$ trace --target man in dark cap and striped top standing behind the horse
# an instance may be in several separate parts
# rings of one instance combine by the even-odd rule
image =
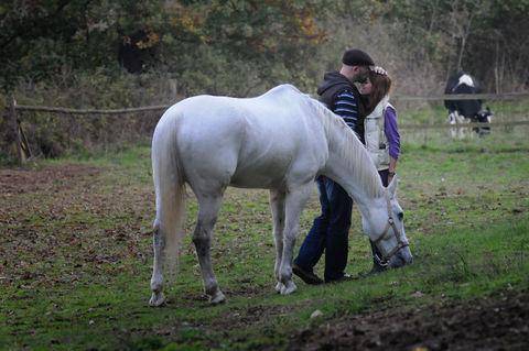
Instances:
[[[342,57],[339,72],[324,75],[324,80],[317,89],[320,100],[334,113],[341,116],[364,142],[364,107],[355,81],[366,79],[369,67],[374,66],[369,55],[360,50],[348,50]],[[314,274],[313,268],[325,251],[325,283],[341,282],[349,278],[344,270],[347,264],[348,231],[353,200],[335,182],[319,177],[322,215],[314,223],[303,241],[292,271],[307,284],[322,284],[323,281]]]

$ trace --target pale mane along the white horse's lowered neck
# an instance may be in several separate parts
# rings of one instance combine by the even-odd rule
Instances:
[[[347,162],[350,176],[360,182],[367,195],[380,197],[384,195],[382,182],[377,173],[366,147],[361,144],[356,133],[338,116],[334,114],[322,102],[302,95],[307,106],[323,121],[327,138],[334,133],[338,140],[336,143],[338,155]]]

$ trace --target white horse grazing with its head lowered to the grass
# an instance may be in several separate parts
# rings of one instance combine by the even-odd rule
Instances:
[[[213,273],[209,246],[227,186],[270,190],[276,241],[276,289],[295,290],[292,254],[301,211],[314,178],[327,176],[350,195],[364,231],[391,266],[412,261],[396,199],[385,188],[364,145],[342,118],[295,87],[282,85],[250,99],[197,96],[171,107],[152,140],[156,196],[150,305],[164,301],[163,264],[176,261],[183,237],[184,184],[198,201],[193,234],[204,288],[225,300]]]

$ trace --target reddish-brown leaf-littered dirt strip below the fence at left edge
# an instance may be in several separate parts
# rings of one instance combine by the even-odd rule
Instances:
[[[43,169],[0,169],[0,195],[10,196],[54,187],[64,189],[73,178],[95,176],[99,168],[85,165],[48,166]]]

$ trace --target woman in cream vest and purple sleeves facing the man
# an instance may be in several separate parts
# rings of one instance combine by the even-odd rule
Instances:
[[[367,98],[367,111],[364,120],[366,147],[375,162],[384,186],[388,186],[395,176],[400,154],[400,135],[397,127],[397,110],[389,103],[391,79],[386,74],[369,72],[366,81],[358,91]],[[388,263],[371,243],[374,266],[368,274],[377,274],[387,268]]]

